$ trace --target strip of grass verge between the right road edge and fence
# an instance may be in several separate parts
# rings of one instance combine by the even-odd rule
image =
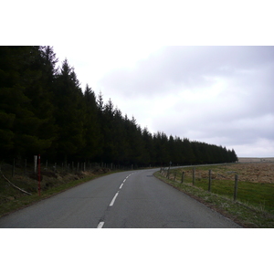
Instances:
[[[274,216],[257,208],[240,202],[234,202],[231,198],[224,195],[209,193],[192,184],[180,184],[169,180],[160,172],[156,172],[155,177],[159,178],[166,184],[172,185],[179,191],[184,192],[206,206],[216,210],[223,216],[227,216],[242,227],[247,228],[273,228]]]

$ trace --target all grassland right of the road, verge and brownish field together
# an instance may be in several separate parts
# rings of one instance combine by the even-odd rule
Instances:
[[[212,170],[210,192],[209,169]],[[236,201],[235,174],[238,175]],[[193,166],[171,169],[169,178],[166,171],[155,175],[243,227],[274,228],[274,163]]]

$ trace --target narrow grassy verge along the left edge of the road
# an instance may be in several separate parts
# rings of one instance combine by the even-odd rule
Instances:
[[[66,184],[57,184],[46,190],[41,191],[41,195],[38,193],[34,193],[33,195],[22,195],[16,199],[11,201],[6,201],[0,205],[0,217],[8,215],[16,210],[22,209],[28,205],[33,205],[41,200],[47,199],[53,195],[58,195],[61,192],[68,190],[69,188],[78,186],[79,184],[84,184],[89,182],[90,180],[96,179],[101,176],[105,176],[108,174],[117,173],[119,171],[112,171],[104,174],[88,174],[79,180],[73,180],[70,182],[66,182]]]

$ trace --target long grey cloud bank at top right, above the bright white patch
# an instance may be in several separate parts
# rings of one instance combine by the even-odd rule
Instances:
[[[101,84],[128,96],[150,97],[180,85],[210,86],[204,76],[237,76],[240,70],[259,69],[273,60],[273,47],[165,47],[136,68],[112,71]]]

